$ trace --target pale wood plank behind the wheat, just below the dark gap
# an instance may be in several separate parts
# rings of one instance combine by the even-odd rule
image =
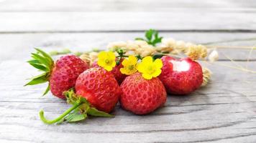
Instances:
[[[164,37],[173,37],[177,40],[206,44],[216,42],[220,46],[253,46],[256,41],[255,33],[204,33],[204,32],[160,32]],[[142,32],[127,33],[75,33],[75,34],[0,34],[0,60],[19,59],[27,60],[34,47],[40,47],[46,51],[52,49],[72,49],[73,51],[88,51],[98,47],[104,49],[111,41],[128,41],[134,37],[144,36]],[[248,41],[229,41],[233,39],[251,39]],[[15,41],[15,42],[14,42]],[[218,49],[219,59],[227,59],[224,55],[234,60],[247,60],[250,49]],[[252,52],[250,59],[256,59],[256,50]]]

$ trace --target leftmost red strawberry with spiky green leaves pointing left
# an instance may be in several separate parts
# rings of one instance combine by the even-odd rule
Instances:
[[[26,85],[49,82],[44,95],[50,90],[55,97],[65,99],[63,92],[75,86],[78,76],[89,68],[88,64],[74,55],[62,56],[54,64],[50,55],[36,50],[37,54],[32,53],[32,60],[28,63],[44,73],[32,78]]]

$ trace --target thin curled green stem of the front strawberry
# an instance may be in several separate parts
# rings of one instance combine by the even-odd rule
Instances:
[[[40,119],[42,120],[42,122],[44,122],[45,124],[54,124],[55,122],[60,121],[60,119],[63,119],[66,115],[68,115],[70,112],[72,112],[74,109],[76,109],[77,107],[79,107],[81,104],[83,104],[83,102],[79,102],[78,104],[74,104],[73,107],[71,107],[70,109],[66,110],[63,114],[61,114],[59,117],[52,119],[52,120],[48,120],[45,118],[44,116],[44,111],[40,111],[39,112],[39,116]]]

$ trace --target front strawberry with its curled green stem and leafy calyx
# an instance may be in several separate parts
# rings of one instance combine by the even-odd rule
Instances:
[[[78,122],[88,115],[96,117],[112,117],[114,109],[122,93],[119,84],[111,72],[102,68],[91,68],[79,75],[76,80],[76,94],[73,89],[64,92],[68,103],[73,107],[66,110],[60,117],[47,120],[40,111],[40,119],[45,124],[60,124],[62,122]]]

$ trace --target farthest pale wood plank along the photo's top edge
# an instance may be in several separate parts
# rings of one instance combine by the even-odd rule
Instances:
[[[1,1],[0,11],[255,11],[253,0],[26,0]]]

